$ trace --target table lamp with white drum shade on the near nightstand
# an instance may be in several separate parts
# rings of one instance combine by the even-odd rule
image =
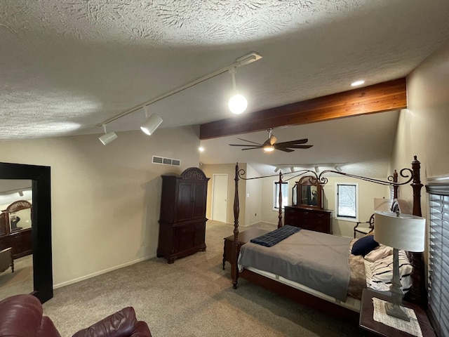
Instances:
[[[393,247],[393,278],[391,279],[391,300],[385,307],[387,315],[410,321],[401,307],[403,291],[399,278],[399,249],[405,251],[424,251],[426,220],[419,216],[403,213],[375,212],[374,239],[380,244]]]

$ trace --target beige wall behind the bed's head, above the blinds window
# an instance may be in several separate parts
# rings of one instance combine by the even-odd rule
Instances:
[[[413,155],[421,162],[421,180],[449,174],[449,40],[407,78],[408,109],[401,111],[391,160],[392,167],[410,167]],[[390,170],[391,171],[391,170]],[[412,201],[412,189],[401,187]],[[422,215],[427,196],[422,194]]]

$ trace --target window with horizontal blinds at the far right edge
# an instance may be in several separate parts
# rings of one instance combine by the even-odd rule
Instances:
[[[429,192],[429,313],[438,336],[449,336],[449,183]]]

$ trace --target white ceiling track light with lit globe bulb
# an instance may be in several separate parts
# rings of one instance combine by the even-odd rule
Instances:
[[[232,74],[232,83],[233,83],[233,88],[234,88],[234,92],[236,93],[236,84],[235,84],[235,74],[236,74],[236,69],[238,67],[243,67],[243,65],[249,65],[250,63],[253,63],[257,60],[260,60],[262,58],[262,55],[260,55],[259,53],[256,53],[255,51],[248,53],[246,55],[241,56],[240,58],[237,58],[236,61],[234,63],[232,63],[232,65],[228,65],[227,67],[221,68],[219,70],[216,70],[215,72],[211,72],[210,74],[204,75],[203,77],[200,77],[199,79],[195,79],[192,82],[189,82],[187,84],[184,84],[183,86],[180,86],[179,88],[175,88],[172,91],[168,91],[168,93],[164,93],[163,95],[160,95],[156,98],[153,98],[152,100],[149,100],[145,103],[143,103],[142,105],[138,105],[137,107],[133,107],[130,110],[126,110],[125,112],[121,112],[121,114],[117,114],[114,117],[111,117],[109,119],[107,119],[106,121],[103,121],[101,124],[98,124],[97,126],[105,126],[106,124],[115,121],[116,119],[119,119],[121,117],[125,117],[128,114],[138,111],[140,109],[144,109],[145,111],[145,116],[147,116],[147,106],[156,102],[159,102],[159,100],[163,100],[164,98],[168,98],[171,95],[175,95],[175,93],[179,93],[180,91],[183,91],[185,89],[191,88],[192,86],[195,86],[196,84],[200,84],[203,81],[207,81],[208,79],[212,79],[213,77],[223,74],[225,72],[229,72]],[[241,114],[242,112],[244,112],[246,110],[246,107],[248,107],[248,102],[246,100],[246,98],[241,95],[234,95],[231,100],[229,100],[228,103],[228,107],[229,110],[231,110],[232,113],[234,114]],[[154,116],[154,114],[152,114],[152,116]],[[149,118],[152,118],[152,116],[150,116]],[[147,126],[147,123],[149,123],[149,126]],[[159,123],[159,124],[158,124]],[[159,115],[156,115],[156,117],[153,117],[153,121],[152,123],[150,123],[149,121],[145,121],[145,124],[143,124],[140,128],[142,129],[142,131],[144,131],[145,133],[151,135],[156,128],[162,123],[162,118]],[[157,124],[157,125],[156,125]],[[151,131],[152,129],[152,125],[156,125],[154,127],[154,130]],[[145,129],[144,129],[145,128]],[[147,131],[151,131],[150,133],[148,133]],[[115,139],[115,138],[114,138]],[[112,140],[111,140],[112,141]]]

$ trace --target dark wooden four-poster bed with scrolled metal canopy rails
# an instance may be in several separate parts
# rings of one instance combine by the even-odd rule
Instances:
[[[421,216],[421,206],[420,206],[420,190],[422,187],[422,184],[420,182],[420,162],[417,161],[417,158],[415,156],[415,160],[412,163],[412,168],[411,169],[402,169],[400,171],[400,175],[403,178],[406,178],[406,181],[403,183],[398,183],[398,173],[394,173],[394,176],[391,176],[388,178],[388,181],[383,181],[383,180],[376,180],[373,178],[367,178],[367,177],[362,177],[362,176],[354,176],[348,173],[343,173],[340,171],[331,171],[331,170],[326,170],[323,171],[318,175],[316,175],[316,173],[314,171],[309,171],[309,170],[302,170],[302,171],[297,171],[295,172],[295,176],[293,176],[292,178],[288,178],[286,180],[283,180],[283,174],[280,172],[279,173],[279,184],[283,183],[283,181],[287,181],[293,178],[297,178],[298,176],[302,176],[304,174],[311,174],[316,176],[316,180],[319,181],[320,184],[324,185],[328,182],[328,179],[325,177],[326,174],[329,173],[335,173],[337,175],[342,175],[342,176],[347,176],[350,178],[356,178],[356,179],[361,179],[361,180],[366,180],[368,182],[371,183],[377,183],[377,184],[382,184],[382,185],[390,185],[394,187],[394,199],[397,199],[398,197],[398,187],[400,185],[405,185],[407,183],[410,183],[413,181],[413,183],[411,183],[411,186],[413,187],[413,215],[415,216]],[[357,322],[358,320],[358,311],[360,309],[360,301],[358,300],[357,296],[354,296],[355,298],[353,298],[351,296],[351,293],[348,291],[349,296],[347,296],[346,299],[342,298],[341,295],[335,295],[332,293],[332,291],[326,291],[326,288],[330,288],[329,284],[324,285],[322,289],[322,291],[317,291],[314,287],[310,288],[309,286],[304,286],[304,284],[298,284],[297,282],[291,282],[290,279],[283,277],[283,276],[279,276],[279,274],[276,274],[276,272],[273,272],[270,268],[267,269],[258,269],[257,267],[251,267],[250,265],[247,265],[245,267],[243,267],[242,265],[240,265],[241,260],[239,260],[239,256],[240,256],[240,251],[242,251],[245,254],[248,254],[247,251],[252,251],[252,250],[256,250],[256,251],[261,251],[260,253],[267,253],[269,251],[269,249],[267,247],[261,247],[257,244],[253,244],[253,243],[248,243],[245,244],[246,241],[248,241],[247,239],[245,240],[245,242],[241,242],[239,240],[239,180],[243,179],[243,180],[250,180],[250,179],[258,179],[258,178],[267,178],[267,176],[262,176],[262,177],[256,177],[256,178],[243,178],[243,175],[245,174],[244,170],[239,169],[239,165],[236,164],[236,170],[235,170],[235,194],[234,194],[234,240],[232,242],[232,249],[231,249],[231,256],[230,256],[230,260],[231,260],[231,277],[232,277],[232,284],[234,286],[234,289],[237,288],[237,283],[238,283],[238,279],[239,277],[242,277],[243,279],[247,279],[250,282],[253,282],[255,284],[258,284],[260,286],[263,286],[269,290],[272,290],[276,293],[281,293],[281,295],[283,296],[287,296],[290,298],[293,298],[294,300],[297,300],[300,303],[303,303],[305,305],[310,306],[311,308],[316,308],[318,310],[324,311],[324,312],[328,312],[331,315],[337,316],[337,317],[341,317],[344,319],[349,319],[352,322]],[[277,175],[276,175],[277,176]],[[278,222],[278,230],[280,230],[283,227],[283,223],[282,223],[282,189],[279,188],[279,222]],[[395,203],[394,206],[397,206],[397,204]],[[288,225],[288,224],[286,224]],[[290,227],[290,226],[286,226],[286,227]],[[275,231],[276,232],[276,231]],[[309,246],[312,246],[310,244],[310,242],[313,242],[313,240],[316,240],[316,242],[323,242],[326,241],[325,239],[336,239],[336,238],[343,238],[343,237],[336,237],[333,236],[331,234],[324,234],[324,233],[319,233],[319,232],[312,232],[309,230],[300,230],[300,232],[302,232],[302,236],[305,235],[305,239],[302,239],[303,241],[299,241],[299,242],[293,242],[293,237],[298,236],[298,235],[292,235],[291,237],[288,237],[287,239],[284,239],[283,241],[279,242],[279,244],[276,244],[275,246],[279,245],[279,249],[281,249],[281,251],[288,251],[290,249],[290,247],[295,246],[300,247],[300,246],[307,246],[307,244],[309,244]],[[318,235],[318,237],[315,238],[315,236]],[[348,240],[349,241],[349,240]],[[344,242],[344,239],[343,241]],[[337,243],[332,243],[330,245],[334,245],[332,247],[332,249],[335,248],[335,246],[338,245],[342,245],[344,243],[337,242]],[[355,240],[352,240],[351,243],[349,244],[349,246],[347,247],[349,251],[349,249],[351,248],[352,244],[354,244]],[[307,243],[307,244],[305,244]],[[242,244],[245,244],[245,246],[242,246]],[[288,246],[290,245],[290,246]],[[295,249],[296,249],[295,248]],[[320,246],[319,249],[316,249],[316,246],[314,246],[314,251],[316,252],[316,255],[319,255],[318,251],[326,251],[326,247],[325,246]],[[314,251],[308,251],[306,255],[308,256],[314,256]],[[272,251],[270,251],[271,253]],[[243,254],[243,255],[245,255]],[[269,254],[269,253],[267,253]],[[277,253],[274,253],[275,255]],[[347,254],[347,253],[346,253]],[[331,251],[331,253],[329,255],[332,256],[337,256],[337,253],[333,253]],[[342,253],[341,255],[344,255],[344,253]],[[351,254],[349,254],[351,257]],[[420,303],[421,305],[425,305],[427,303],[427,293],[426,293],[426,289],[425,289],[425,284],[424,284],[424,261],[422,258],[422,253],[407,253],[408,258],[410,260],[411,265],[413,266],[413,272],[411,275],[411,279],[413,281],[413,286],[410,288],[410,290],[407,293],[407,298],[408,300],[413,300],[414,302]],[[242,256],[240,256],[242,257]],[[267,255],[265,255],[264,257],[261,256],[257,256],[257,257],[253,257],[252,261],[259,261],[260,260],[264,260],[265,258],[267,258]],[[242,258],[243,259],[243,258]],[[267,258],[269,260],[269,258]],[[286,264],[285,260],[291,260],[292,258],[288,257],[285,258],[284,260],[281,260],[282,265]],[[323,260],[323,258],[321,256],[319,256],[318,258],[319,260]],[[347,257],[346,257],[347,259]],[[363,258],[362,258],[363,259]],[[249,258],[249,260],[251,260],[251,258]],[[269,262],[267,262],[268,265],[272,266],[272,265],[276,265],[276,262],[274,262],[274,260],[269,260]],[[309,263],[307,261],[307,263]],[[332,263],[337,263],[337,262],[330,262],[329,264]],[[340,262],[338,262],[340,263]],[[348,260],[345,261],[346,264],[348,264]],[[343,264],[345,264],[343,263]],[[353,262],[351,261],[351,258],[349,258],[349,265],[351,265]],[[356,262],[356,263],[361,263],[360,261]],[[297,267],[301,267],[302,263],[297,263],[294,261],[293,263],[293,268],[297,268]],[[314,264],[314,262],[312,261],[311,264]],[[243,263],[243,265],[246,265],[246,263]],[[263,263],[262,263],[263,265]],[[352,268],[352,265],[350,266]],[[321,267],[321,269],[323,269],[323,267]],[[326,269],[326,268],[325,268]],[[316,269],[319,270],[319,269]],[[322,270],[320,270],[321,272]],[[325,270],[326,271],[326,270]],[[296,270],[294,270],[294,273],[297,274],[307,274],[307,272],[297,272]],[[332,278],[332,282],[335,279],[335,274],[337,272],[335,272],[335,270],[329,270],[328,271],[328,275],[324,275],[323,279],[326,278]],[[353,280],[353,276],[356,276],[357,272],[354,272],[353,275],[353,271],[350,271],[351,273],[351,277],[349,279],[349,281],[347,280],[343,280],[342,283],[344,284],[344,282],[349,282],[349,286],[351,286],[351,282]],[[286,274],[290,275],[291,271],[286,272]],[[358,271],[358,274],[360,274],[360,272]],[[280,275],[283,275],[282,273]],[[312,275],[311,278],[316,278],[315,275]],[[329,280],[327,280],[329,282]],[[307,284],[308,280],[305,281],[305,284]],[[366,283],[364,284],[364,286],[366,287]],[[360,289],[361,292],[361,289]],[[343,296],[344,297],[344,296]]]

